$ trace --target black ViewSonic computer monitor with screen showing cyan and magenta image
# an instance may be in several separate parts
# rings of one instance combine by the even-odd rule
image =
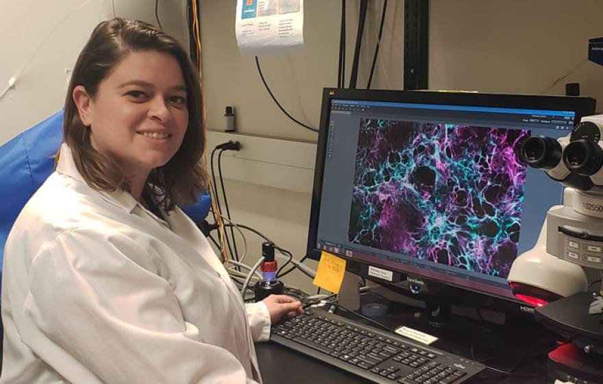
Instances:
[[[517,149],[594,112],[588,97],[325,88],[308,256],[517,304],[509,269],[563,189]]]

